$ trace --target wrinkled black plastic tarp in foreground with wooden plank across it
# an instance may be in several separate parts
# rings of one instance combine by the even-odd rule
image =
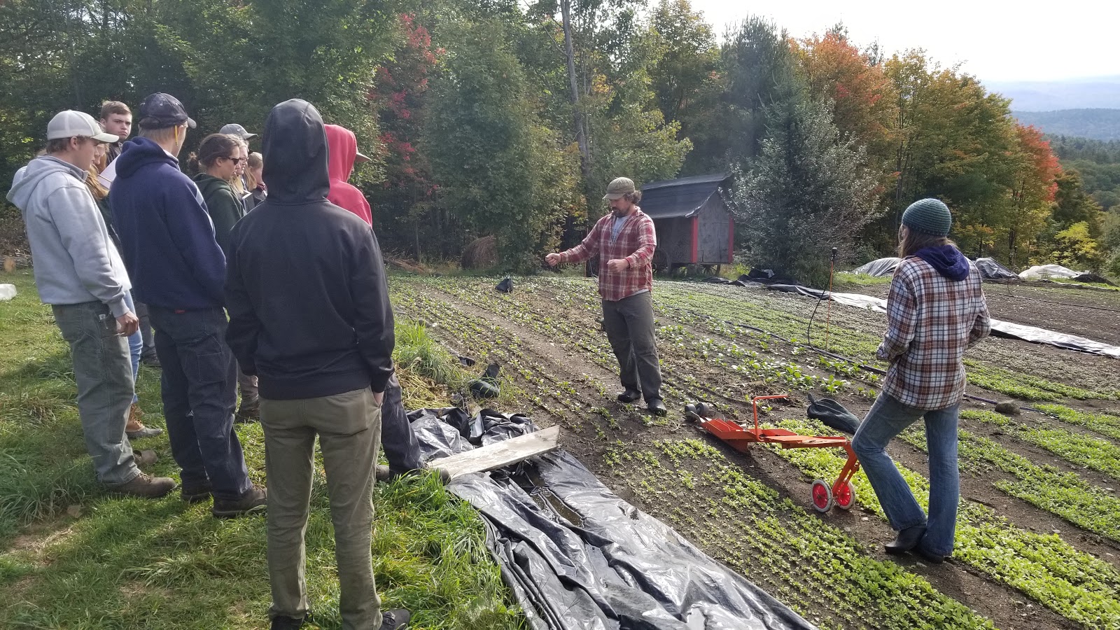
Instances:
[[[526,416],[491,410],[469,417],[420,409],[409,418],[426,458],[535,429]],[[456,478],[448,490],[482,515],[491,552],[533,630],[814,628],[616,497],[563,451]]]

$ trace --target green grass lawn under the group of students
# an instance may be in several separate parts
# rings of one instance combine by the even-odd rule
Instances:
[[[267,628],[271,601],[260,516],[218,521],[187,506],[103,493],[82,439],[68,349],[30,271],[0,276],[19,295],[0,302],[0,628]],[[409,365],[431,371],[426,335],[402,335]],[[420,345],[420,350],[416,346]],[[444,377],[454,368],[445,367]],[[430,376],[430,374],[429,374]],[[409,406],[439,388],[401,374]],[[142,368],[144,421],[162,426],[159,372]],[[237,434],[254,481],[264,479],[260,425]],[[177,476],[166,435],[139,441]],[[325,476],[317,466],[307,527],[310,627],[339,628]],[[482,521],[433,478],[379,484],[373,555],[384,608],[412,610],[417,629],[523,627]]]

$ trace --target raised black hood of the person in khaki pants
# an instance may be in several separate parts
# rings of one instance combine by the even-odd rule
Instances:
[[[315,105],[291,99],[272,108],[264,123],[264,184],[269,203],[301,205],[326,201],[327,135]]]

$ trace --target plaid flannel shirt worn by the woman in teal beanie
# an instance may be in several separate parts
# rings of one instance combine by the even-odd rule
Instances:
[[[980,274],[952,281],[907,257],[887,296],[887,333],[877,355],[890,361],[884,393],[918,409],[944,409],[964,396],[964,351],[991,332]]]

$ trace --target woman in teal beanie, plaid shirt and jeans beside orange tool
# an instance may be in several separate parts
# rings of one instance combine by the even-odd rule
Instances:
[[[887,332],[877,355],[889,361],[883,391],[852,438],[852,450],[897,538],[889,554],[931,563],[953,553],[960,476],[956,420],[964,397],[964,351],[991,332],[980,274],[952,241],[949,207],[914,202],[898,229],[902,262],[890,280]],[[886,453],[903,429],[925,418],[930,513],[922,511]]]

